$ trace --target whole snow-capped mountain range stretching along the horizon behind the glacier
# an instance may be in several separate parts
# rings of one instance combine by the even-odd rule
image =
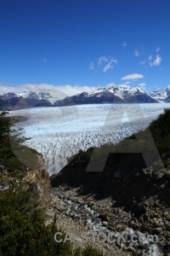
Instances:
[[[82,92],[75,96],[60,99],[57,93],[41,91],[23,91],[0,93],[1,105],[4,110],[34,107],[64,107],[80,104],[102,103],[158,103],[170,102],[170,88],[146,93],[135,86],[110,86],[99,88],[93,92]]]

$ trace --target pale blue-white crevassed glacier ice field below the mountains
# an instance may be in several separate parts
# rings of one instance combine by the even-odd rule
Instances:
[[[147,127],[164,108],[170,108],[170,103],[27,108],[12,111],[10,115],[26,118],[15,128],[23,128],[23,136],[31,137],[26,145],[42,154],[52,175],[80,149],[117,143]]]

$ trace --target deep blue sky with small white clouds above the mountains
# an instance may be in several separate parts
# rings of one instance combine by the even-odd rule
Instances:
[[[0,91],[170,84],[169,0],[0,1]]]

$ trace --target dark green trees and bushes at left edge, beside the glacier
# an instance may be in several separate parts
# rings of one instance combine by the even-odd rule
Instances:
[[[26,172],[26,168],[32,169],[37,165],[38,153],[21,144],[26,138],[20,137],[21,131],[16,133],[11,129],[19,119],[9,118],[7,113],[0,113],[0,164],[7,168],[8,172]]]

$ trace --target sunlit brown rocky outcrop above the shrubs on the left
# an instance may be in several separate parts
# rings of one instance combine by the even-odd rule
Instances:
[[[4,166],[0,166],[0,191],[10,188],[10,183],[21,186],[31,192],[31,202],[46,209],[51,201],[51,185],[46,171],[45,162],[41,154],[36,154],[37,165],[20,173],[20,177],[14,172],[8,172]]]

